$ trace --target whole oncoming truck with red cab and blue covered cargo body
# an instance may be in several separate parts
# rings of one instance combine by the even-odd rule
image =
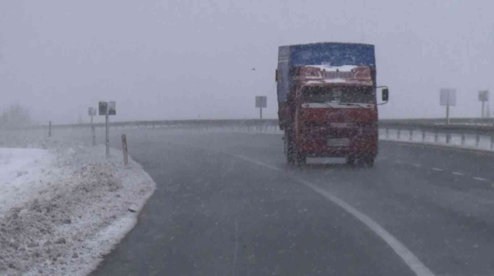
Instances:
[[[382,89],[380,104],[389,97],[387,86],[376,85],[374,45],[280,46],[275,79],[288,163],[329,157],[373,166],[378,148],[377,89]]]

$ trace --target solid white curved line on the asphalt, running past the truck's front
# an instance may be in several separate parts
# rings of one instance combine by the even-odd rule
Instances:
[[[253,162],[257,165],[264,166],[270,169],[274,169],[277,171],[281,171],[282,169],[270,166],[268,164],[264,164],[262,162],[259,162],[257,160],[244,157],[244,156],[238,156],[238,155],[233,155],[225,152],[221,152],[223,154],[227,154],[233,157],[237,158],[242,158],[244,160]],[[382,226],[380,226],[377,222],[373,221],[370,217],[368,217],[366,214],[361,213],[359,210],[355,209],[354,207],[350,206],[348,203],[345,201],[339,199],[338,197],[333,196],[331,193],[328,191],[323,190],[322,188],[318,187],[317,185],[305,181],[303,179],[289,176],[289,178],[296,180],[305,186],[311,188],[318,194],[320,194],[323,197],[326,197],[329,201],[333,202],[334,204],[340,206],[343,208],[345,211],[348,213],[352,214],[354,217],[356,217],[358,220],[360,220],[363,224],[365,224],[367,227],[371,229],[372,232],[374,232],[377,236],[382,238],[384,242],[386,242],[393,250],[402,258],[402,260],[409,266],[409,268],[415,273],[417,276],[434,276],[434,274],[424,265],[420,260],[410,251],[403,243],[401,243],[398,239],[396,239],[393,235],[391,235],[389,232],[387,232]]]

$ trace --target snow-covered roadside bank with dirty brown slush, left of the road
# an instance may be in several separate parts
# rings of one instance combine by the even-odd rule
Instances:
[[[0,275],[86,275],[136,224],[156,183],[122,152],[55,139],[0,148]]]

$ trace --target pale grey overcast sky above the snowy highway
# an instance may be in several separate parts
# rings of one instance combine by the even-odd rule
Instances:
[[[342,41],[376,46],[391,99],[380,118],[444,116],[441,87],[457,89],[452,116],[480,116],[494,1],[301,2],[0,1],[0,108],[76,122],[114,100],[115,120],[256,118],[254,96],[267,95],[264,117],[277,118],[278,46]]]

